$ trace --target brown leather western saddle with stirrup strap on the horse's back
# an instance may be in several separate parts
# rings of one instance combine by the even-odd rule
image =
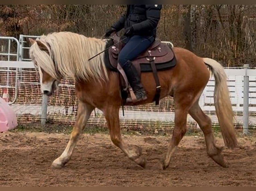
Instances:
[[[108,68],[112,71],[119,72],[119,80],[121,84],[121,90],[124,92],[130,92],[133,102],[136,101],[136,96],[134,95],[125,72],[122,67],[117,62],[119,52],[123,47],[120,37],[117,34],[112,34],[111,38],[113,40],[112,47],[108,49],[108,59],[109,65]],[[132,60],[133,65],[135,66],[139,76],[141,72],[153,72],[155,83],[156,83],[156,94],[154,100],[156,105],[159,104],[161,86],[159,83],[157,71],[167,70],[176,65],[175,55],[173,53],[172,47],[168,46],[166,43],[162,43],[160,39],[156,40],[151,44],[150,47],[134,60]],[[127,91],[128,90],[128,91]],[[123,93],[124,93],[123,92]],[[122,92],[121,92],[122,93]],[[121,94],[122,98],[125,99],[124,94]]]

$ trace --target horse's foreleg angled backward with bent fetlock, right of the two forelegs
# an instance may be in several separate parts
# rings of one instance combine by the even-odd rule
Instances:
[[[110,138],[112,142],[119,147],[128,157],[139,166],[145,168],[146,160],[142,155],[142,149],[137,146],[128,146],[121,136],[119,122],[119,107],[108,106],[104,110],[104,114],[108,123]]]

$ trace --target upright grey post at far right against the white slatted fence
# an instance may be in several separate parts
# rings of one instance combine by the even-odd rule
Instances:
[[[249,64],[244,65],[244,114],[243,114],[243,134],[249,133],[249,76],[247,70]]]

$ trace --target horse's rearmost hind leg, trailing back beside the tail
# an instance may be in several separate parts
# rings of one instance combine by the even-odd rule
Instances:
[[[222,149],[217,147],[215,143],[215,138],[212,131],[212,120],[202,111],[198,104],[198,101],[190,108],[189,114],[197,121],[197,123],[199,124],[200,128],[204,133],[207,154],[217,164],[221,165],[222,167],[227,167],[227,164],[221,154]]]

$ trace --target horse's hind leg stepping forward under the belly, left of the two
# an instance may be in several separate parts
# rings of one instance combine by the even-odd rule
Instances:
[[[174,123],[172,139],[168,146],[166,156],[162,159],[162,166],[164,170],[168,168],[171,156],[186,133],[187,112],[181,108],[175,109]]]

